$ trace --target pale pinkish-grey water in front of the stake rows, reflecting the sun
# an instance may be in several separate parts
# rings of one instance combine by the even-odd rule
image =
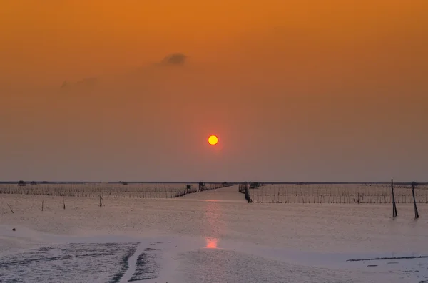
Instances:
[[[0,282],[428,280],[427,259],[399,259],[428,255],[427,205],[393,219],[390,205],[248,204],[235,189],[103,207],[69,197],[66,210],[61,197],[2,195]],[[377,257],[394,259],[347,262]]]

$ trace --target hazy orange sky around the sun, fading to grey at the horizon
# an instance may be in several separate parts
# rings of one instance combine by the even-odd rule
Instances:
[[[1,1],[0,181],[427,181],[427,11]]]

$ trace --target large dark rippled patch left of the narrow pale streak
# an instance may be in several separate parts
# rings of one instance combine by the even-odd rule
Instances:
[[[0,257],[0,282],[117,283],[138,243],[51,245]]]

